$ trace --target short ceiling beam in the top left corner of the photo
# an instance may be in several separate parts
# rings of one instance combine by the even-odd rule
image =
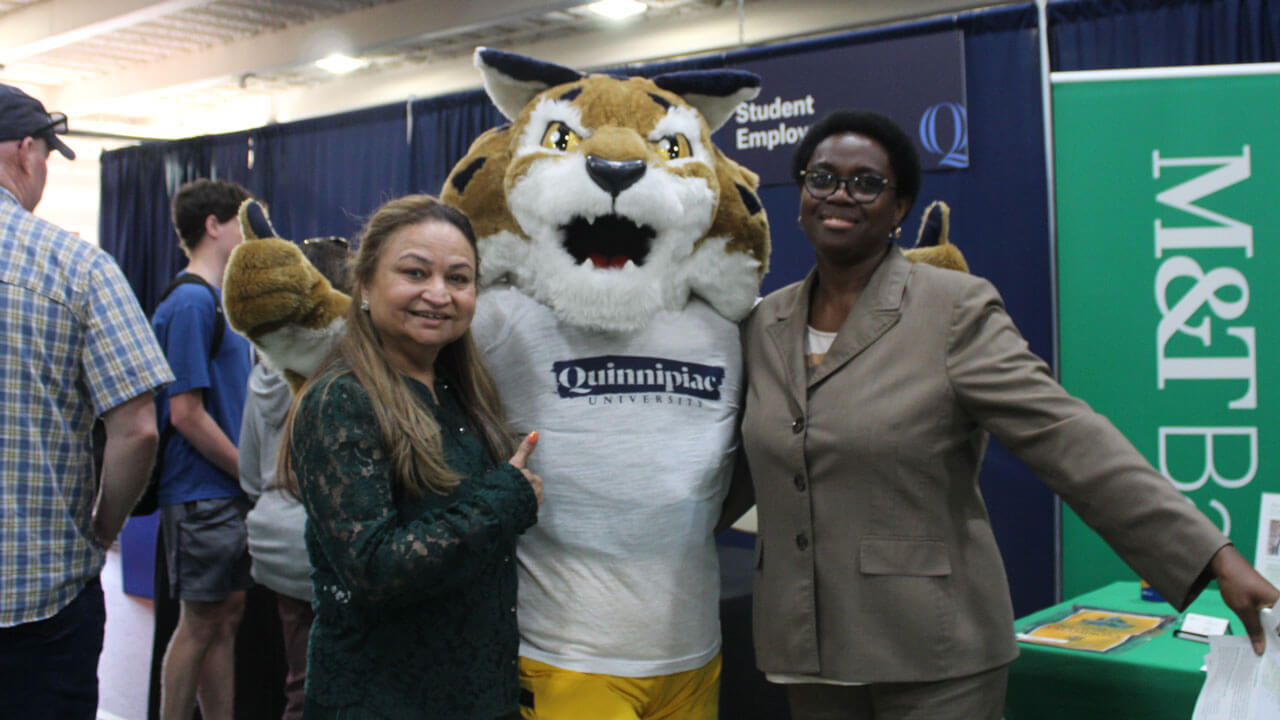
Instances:
[[[0,17],[0,64],[136,26],[209,0],[46,0]]]

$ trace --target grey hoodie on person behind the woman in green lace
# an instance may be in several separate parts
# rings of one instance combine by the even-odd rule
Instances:
[[[241,423],[241,487],[255,501],[248,512],[248,552],[253,579],[273,591],[311,601],[311,561],[302,539],[306,512],[275,484],[280,432],[293,392],[284,375],[259,363],[248,377],[248,398]]]

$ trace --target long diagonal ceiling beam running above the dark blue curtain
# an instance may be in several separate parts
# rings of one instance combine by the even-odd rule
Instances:
[[[116,97],[274,72],[319,60],[330,53],[367,53],[420,37],[539,17],[579,4],[572,0],[401,0],[50,88],[46,95],[49,102],[59,108],[88,109]]]

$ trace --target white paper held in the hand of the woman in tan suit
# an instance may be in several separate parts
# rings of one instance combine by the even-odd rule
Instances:
[[[1258,657],[1247,635],[1208,641],[1204,688],[1192,720],[1280,720],[1280,612],[1262,611],[1267,650]]]

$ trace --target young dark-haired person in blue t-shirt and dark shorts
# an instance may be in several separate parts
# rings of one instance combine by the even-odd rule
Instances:
[[[180,601],[161,673],[164,720],[189,719],[197,700],[205,720],[230,720],[236,629],[253,584],[236,450],[252,352],[230,328],[218,329],[218,288],[243,240],[237,213],[247,197],[220,181],[179,188],[173,222],[189,259],[183,272],[204,282],[173,287],[152,318],[177,377],[157,398],[160,427],[173,427],[157,495],[169,593]]]

